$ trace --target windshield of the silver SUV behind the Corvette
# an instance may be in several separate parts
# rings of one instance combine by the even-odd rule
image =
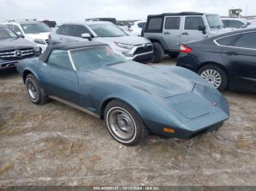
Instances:
[[[95,24],[90,27],[99,37],[127,36],[124,31],[113,24]]]

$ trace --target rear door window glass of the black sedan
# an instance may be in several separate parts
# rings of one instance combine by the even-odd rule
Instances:
[[[256,49],[256,32],[243,34],[235,43],[235,47]]]

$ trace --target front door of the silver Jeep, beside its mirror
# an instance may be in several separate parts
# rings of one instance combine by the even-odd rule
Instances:
[[[199,31],[199,26],[206,26],[203,16],[186,16],[184,17],[184,24],[181,31],[181,43],[206,39],[207,33]]]

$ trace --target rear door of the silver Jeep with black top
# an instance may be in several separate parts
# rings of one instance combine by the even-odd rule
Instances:
[[[163,36],[170,50],[179,50],[181,40],[181,17],[165,17]]]

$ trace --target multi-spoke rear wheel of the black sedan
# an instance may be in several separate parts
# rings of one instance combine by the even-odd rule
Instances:
[[[213,64],[203,66],[197,71],[197,74],[219,91],[223,91],[227,87],[227,74],[219,66]]]

